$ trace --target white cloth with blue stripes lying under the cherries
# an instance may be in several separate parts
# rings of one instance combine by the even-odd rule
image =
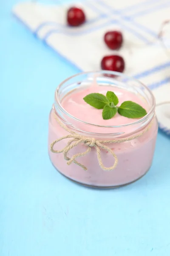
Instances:
[[[156,103],[169,102],[170,51],[157,35],[161,24],[170,19],[170,0],[86,0],[74,5],[84,9],[87,16],[80,27],[66,24],[66,10],[71,4],[19,3],[13,13],[81,71],[100,70],[102,57],[115,53],[103,41],[105,32],[122,30],[124,44],[116,53],[125,59],[125,73],[153,90]],[[167,25],[164,30],[163,42],[170,49],[169,28]],[[161,107],[161,113],[164,107],[170,105]],[[160,127],[169,133],[170,118],[165,120],[159,118]]]

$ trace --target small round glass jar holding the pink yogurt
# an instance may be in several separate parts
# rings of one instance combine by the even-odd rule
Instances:
[[[147,115],[141,119],[135,119],[132,123],[119,126],[96,125],[84,122],[83,117],[80,120],[71,116],[62,107],[62,99],[73,90],[90,86],[92,82],[97,83],[99,86],[109,85],[135,93],[147,105]],[[55,92],[55,102],[49,116],[49,156],[54,167],[62,175],[73,181],[91,187],[109,188],[122,186],[138,180],[150,169],[157,131],[155,99],[152,92],[141,82],[122,73],[111,71],[80,73],[59,84]],[[74,138],[71,137],[73,134],[87,138],[90,142],[94,142],[94,140],[100,141],[102,145],[110,149],[99,148],[105,169],[102,169],[99,165],[94,143],[78,143],[78,145],[67,151],[68,141],[75,139],[75,136],[73,136]],[[67,135],[70,135],[68,136],[69,138],[61,139],[55,143],[55,140]],[[108,143],[110,141],[112,142]],[[56,153],[62,148],[66,148],[67,154],[66,151]],[[87,154],[75,159],[87,169],[83,169],[82,166],[74,161],[72,163],[69,162],[72,156],[88,149]],[[65,153],[65,156],[63,153]],[[111,166],[113,166],[113,169],[108,170],[107,168]]]

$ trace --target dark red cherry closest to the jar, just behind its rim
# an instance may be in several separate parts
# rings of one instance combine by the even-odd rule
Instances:
[[[119,55],[108,55],[102,58],[101,68],[102,70],[123,72],[125,69],[125,61]]]

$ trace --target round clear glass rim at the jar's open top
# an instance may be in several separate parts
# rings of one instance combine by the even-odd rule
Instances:
[[[69,81],[70,79],[72,79],[72,78],[74,78],[74,77],[78,77],[78,76],[85,75],[85,74],[87,74],[87,75],[88,75],[88,74],[95,74],[95,73],[107,74],[108,76],[109,76],[109,75],[110,75],[110,76],[111,76],[111,75],[112,75],[112,76],[119,76],[119,77],[124,78],[125,81],[127,81],[128,79],[131,79],[132,81],[136,81],[136,82],[138,82],[139,84],[141,84],[141,85],[144,87],[144,89],[146,89],[147,92],[150,94],[151,99],[152,99],[152,106],[151,106],[150,110],[148,111],[148,113],[147,113],[145,116],[143,116],[142,118],[140,118],[140,119],[138,119],[138,120],[136,120],[136,121],[134,121],[134,122],[130,122],[130,123],[123,124],[123,125],[97,125],[97,124],[92,124],[92,123],[85,122],[85,121],[83,121],[83,120],[81,120],[81,119],[79,119],[79,118],[77,118],[77,117],[71,115],[71,114],[68,113],[67,111],[65,111],[65,109],[62,107],[61,103],[59,102],[58,93],[59,93],[60,87],[61,87],[63,84],[65,84],[65,82]],[[136,124],[139,124],[140,122],[143,122],[144,120],[146,120],[146,119],[150,116],[150,114],[155,111],[155,106],[156,106],[155,97],[153,96],[152,91],[151,91],[146,85],[144,85],[141,81],[139,81],[139,80],[137,80],[137,79],[135,79],[135,78],[133,78],[133,77],[127,76],[127,75],[125,75],[125,74],[123,74],[123,73],[116,72],[116,71],[108,71],[108,70],[86,71],[86,72],[77,73],[77,74],[75,74],[75,75],[73,75],[73,76],[68,77],[67,79],[65,79],[64,81],[62,81],[62,82],[58,85],[57,89],[55,90],[55,101],[56,101],[56,103],[57,103],[57,105],[58,105],[58,107],[59,107],[59,110],[62,111],[62,112],[63,112],[65,115],[67,115],[68,117],[70,117],[70,118],[72,118],[72,119],[74,119],[74,120],[76,120],[76,121],[78,121],[78,122],[84,123],[84,124],[86,124],[86,125],[92,125],[92,126],[97,126],[97,127],[102,127],[102,128],[120,128],[120,127],[127,127],[127,126],[129,126],[129,125],[136,125]]]

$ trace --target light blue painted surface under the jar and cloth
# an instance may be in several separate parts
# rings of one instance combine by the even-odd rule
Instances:
[[[141,180],[96,190],[48,159],[54,90],[78,72],[0,0],[0,256],[170,255],[170,138],[159,133]]]

